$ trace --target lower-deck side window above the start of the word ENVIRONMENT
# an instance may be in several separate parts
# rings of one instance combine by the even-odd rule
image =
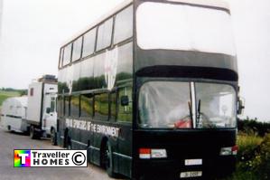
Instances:
[[[95,119],[108,119],[108,94],[96,94],[94,99]]]

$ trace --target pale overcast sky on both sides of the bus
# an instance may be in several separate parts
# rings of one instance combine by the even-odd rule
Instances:
[[[270,1],[228,1],[245,116],[270,121]],[[0,8],[0,87],[27,89],[42,74],[57,75],[62,43],[120,2],[4,0],[2,17]]]

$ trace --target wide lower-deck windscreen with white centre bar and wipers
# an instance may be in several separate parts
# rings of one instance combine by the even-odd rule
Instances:
[[[227,84],[149,81],[139,93],[139,126],[235,128],[235,104],[236,91]]]

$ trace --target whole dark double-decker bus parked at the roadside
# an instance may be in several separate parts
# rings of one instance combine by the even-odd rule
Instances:
[[[233,172],[238,75],[220,1],[128,0],[61,47],[59,144],[110,176]]]

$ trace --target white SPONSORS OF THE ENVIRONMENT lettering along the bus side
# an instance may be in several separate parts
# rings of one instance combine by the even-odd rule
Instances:
[[[66,118],[66,127],[67,128],[79,128],[81,130],[88,130],[95,133],[111,136],[111,137],[118,137],[119,136],[119,129],[116,127],[109,127],[107,125],[99,125],[94,124],[90,121],[85,120],[78,120],[72,118]]]

